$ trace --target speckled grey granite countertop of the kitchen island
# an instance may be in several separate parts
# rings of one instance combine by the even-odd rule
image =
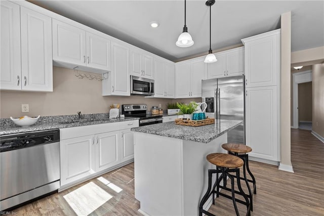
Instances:
[[[242,123],[242,121],[216,119],[215,124],[192,127],[176,125],[175,122],[166,122],[132,128],[131,130],[140,133],[149,133],[176,139],[208,143],[238,126],[240,123]]]

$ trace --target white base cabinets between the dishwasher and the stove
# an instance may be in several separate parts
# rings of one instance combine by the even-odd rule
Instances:
[[[61,189],[134,159],[138,120],[60,129]]]

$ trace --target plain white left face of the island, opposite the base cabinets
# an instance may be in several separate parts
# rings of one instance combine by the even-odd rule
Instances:
[[[184,215],[182,140],[135,132],[135,198],[149,215]]]

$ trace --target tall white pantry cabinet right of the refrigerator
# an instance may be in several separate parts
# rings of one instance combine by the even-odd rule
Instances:
[[[280,161],[280,29],[242,39],[245,45],[246,145],[250,159]]]

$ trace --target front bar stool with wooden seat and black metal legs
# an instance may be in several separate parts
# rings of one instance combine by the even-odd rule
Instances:
[[[236,206],[236,202],[246,205],[247,206],[247,214],[246,215],[250,215],[250,208],[251,208],[250,201],[249,201],[248,196],[242,190],[242,187],[240,185],[240,177],[239,177],[239,167],[244,165],[244,161],[234,155],[223,154],[223,153],[209,154],[209,155],[207,155],[207,160],[210,163],[216,165],[216,169],[208,170],[208,189],[207,189],[207,192],[204,195],[203,199],[201,199],[201,201],[200,201],[199,216],[203,215],[203,213],[210,215],[210,216],[215,216],[215,214],[212,214],[212,213],[208,212],[207,210],[203,209],[204,204],[206,203],[206,201],[209,199],[209,197],[211,195],[213,195],[213,204],[215,205],[215,193],[216,193],[217,197],[219,197],[219,195],[221,195],[228,199],[232,199],[236,215],[239,215],[238,209]],[[217,185],[218,188],[221,188],[221,189],[224,189],[227,191],[231,191],[232,196],[229,196],[229,195],[224,194],[219,191],[215,191],[215,185],[212,190],[212,178],[213,178],[214,173],[217,173],[217,179],[216,179],[215,185]],[[221,173],[220,177],[218,177],[219,173]],[[235,175],[233,175],[231,173],[233,173]],[[230,178],[230,180],[231,180],[231,189],[226,188],[227,177]],[[234,189],[234,177],[237,179],[237,187],[238,187],[239,191],[235,191],[235,189]],[[223,180],[223,186],[220,185],[221,180]],[[236,199],[235,194],[242,195],[244,197],[245,201]]]

